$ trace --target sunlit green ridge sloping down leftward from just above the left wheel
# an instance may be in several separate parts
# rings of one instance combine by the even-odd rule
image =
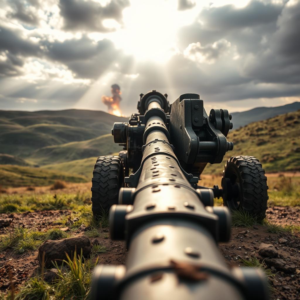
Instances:
[[[113,136],[106,134],[90,140],[43,147],[32,153],[30,161],[40,165],[58,164],[83,158],[110,155],[119,152],[121,149],[118,144],[114,143]]]

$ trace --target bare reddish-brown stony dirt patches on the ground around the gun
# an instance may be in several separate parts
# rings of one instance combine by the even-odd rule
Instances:
[[[0,229],[0,234],[5,230],[11,230],[13,226],[25,226],[39,231],[54,227],[64,227],[64,224],[57,222],[61,217],[70,215],[71,211],[35,211],[22,214],[0,214],[2,217],[13,219],[11,225],[6,229]],[[277,223],[300,222],[300,208],[273,207],[267,211],[268,218]],[[258,248],[261,243],[273,244],[278,251],[278,258],[296,266],[296,272],[286,273],[272,268],[275,274],[269,277],[273,286],[272,299],[296,300],[300,297],[300,236],[290,233],[268,233],[265,226],[254,226],[255,228],[232,228],[231,241],[220,244],[219,248],[229,266],[241,265],[240,259],[249,256],[258,256]],[[249,232],[245,230],[249,230]],[[83,229],[78,229],[73,235],[84,234]],[[91,238],[94,239],[94,238]],[[126,261],[125,243],[111,241],[108,236],[108,229],[101,229],[101,237],[97,238],[107,247],[107,253],[99,255],[99,263],[124,264]],[[15,253],[10,249],[0,254],[0,288],[7,289],[9,281],[8,268],[11,268],[11,276],[16,288],[23,285],[32,275],[37,273],[39,268],[38,251]]]

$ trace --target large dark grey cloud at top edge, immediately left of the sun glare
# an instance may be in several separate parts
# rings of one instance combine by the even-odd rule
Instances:
[[[95,1],[60,0],[60,14],[64,18],[64,29],[110,32],[103,25],[105,19],[122,23],[122,11],[129,6],[129,0],[111,0],[102,6]]]

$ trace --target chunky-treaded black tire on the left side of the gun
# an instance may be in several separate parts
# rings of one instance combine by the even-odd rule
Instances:
[[[92,178],[92,212],[102,216],[113,204],[118,204],[119,190],[124,182],[122,159],[118,156],[101,156],[97,159]]]

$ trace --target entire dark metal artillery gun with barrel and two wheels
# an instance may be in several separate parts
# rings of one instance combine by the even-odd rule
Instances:
[[[112,130],[123,151],[98,158],[93,171],[93,214],[110,209],[110,236],[126,240],[128,258],[126,266],[95,269],[92,299],[268,299],[263,272],[229,270],[216,246],[230,238],[230,211],[265,217],[262,165],[232,157],[222,188],[198,185],[206,164],[233,149],[231,115],[212,109],[208,116],[198,94],[169,104],[155,90],[141,94],[137,108]],[[219,197],[224,206],[213,206]]]

